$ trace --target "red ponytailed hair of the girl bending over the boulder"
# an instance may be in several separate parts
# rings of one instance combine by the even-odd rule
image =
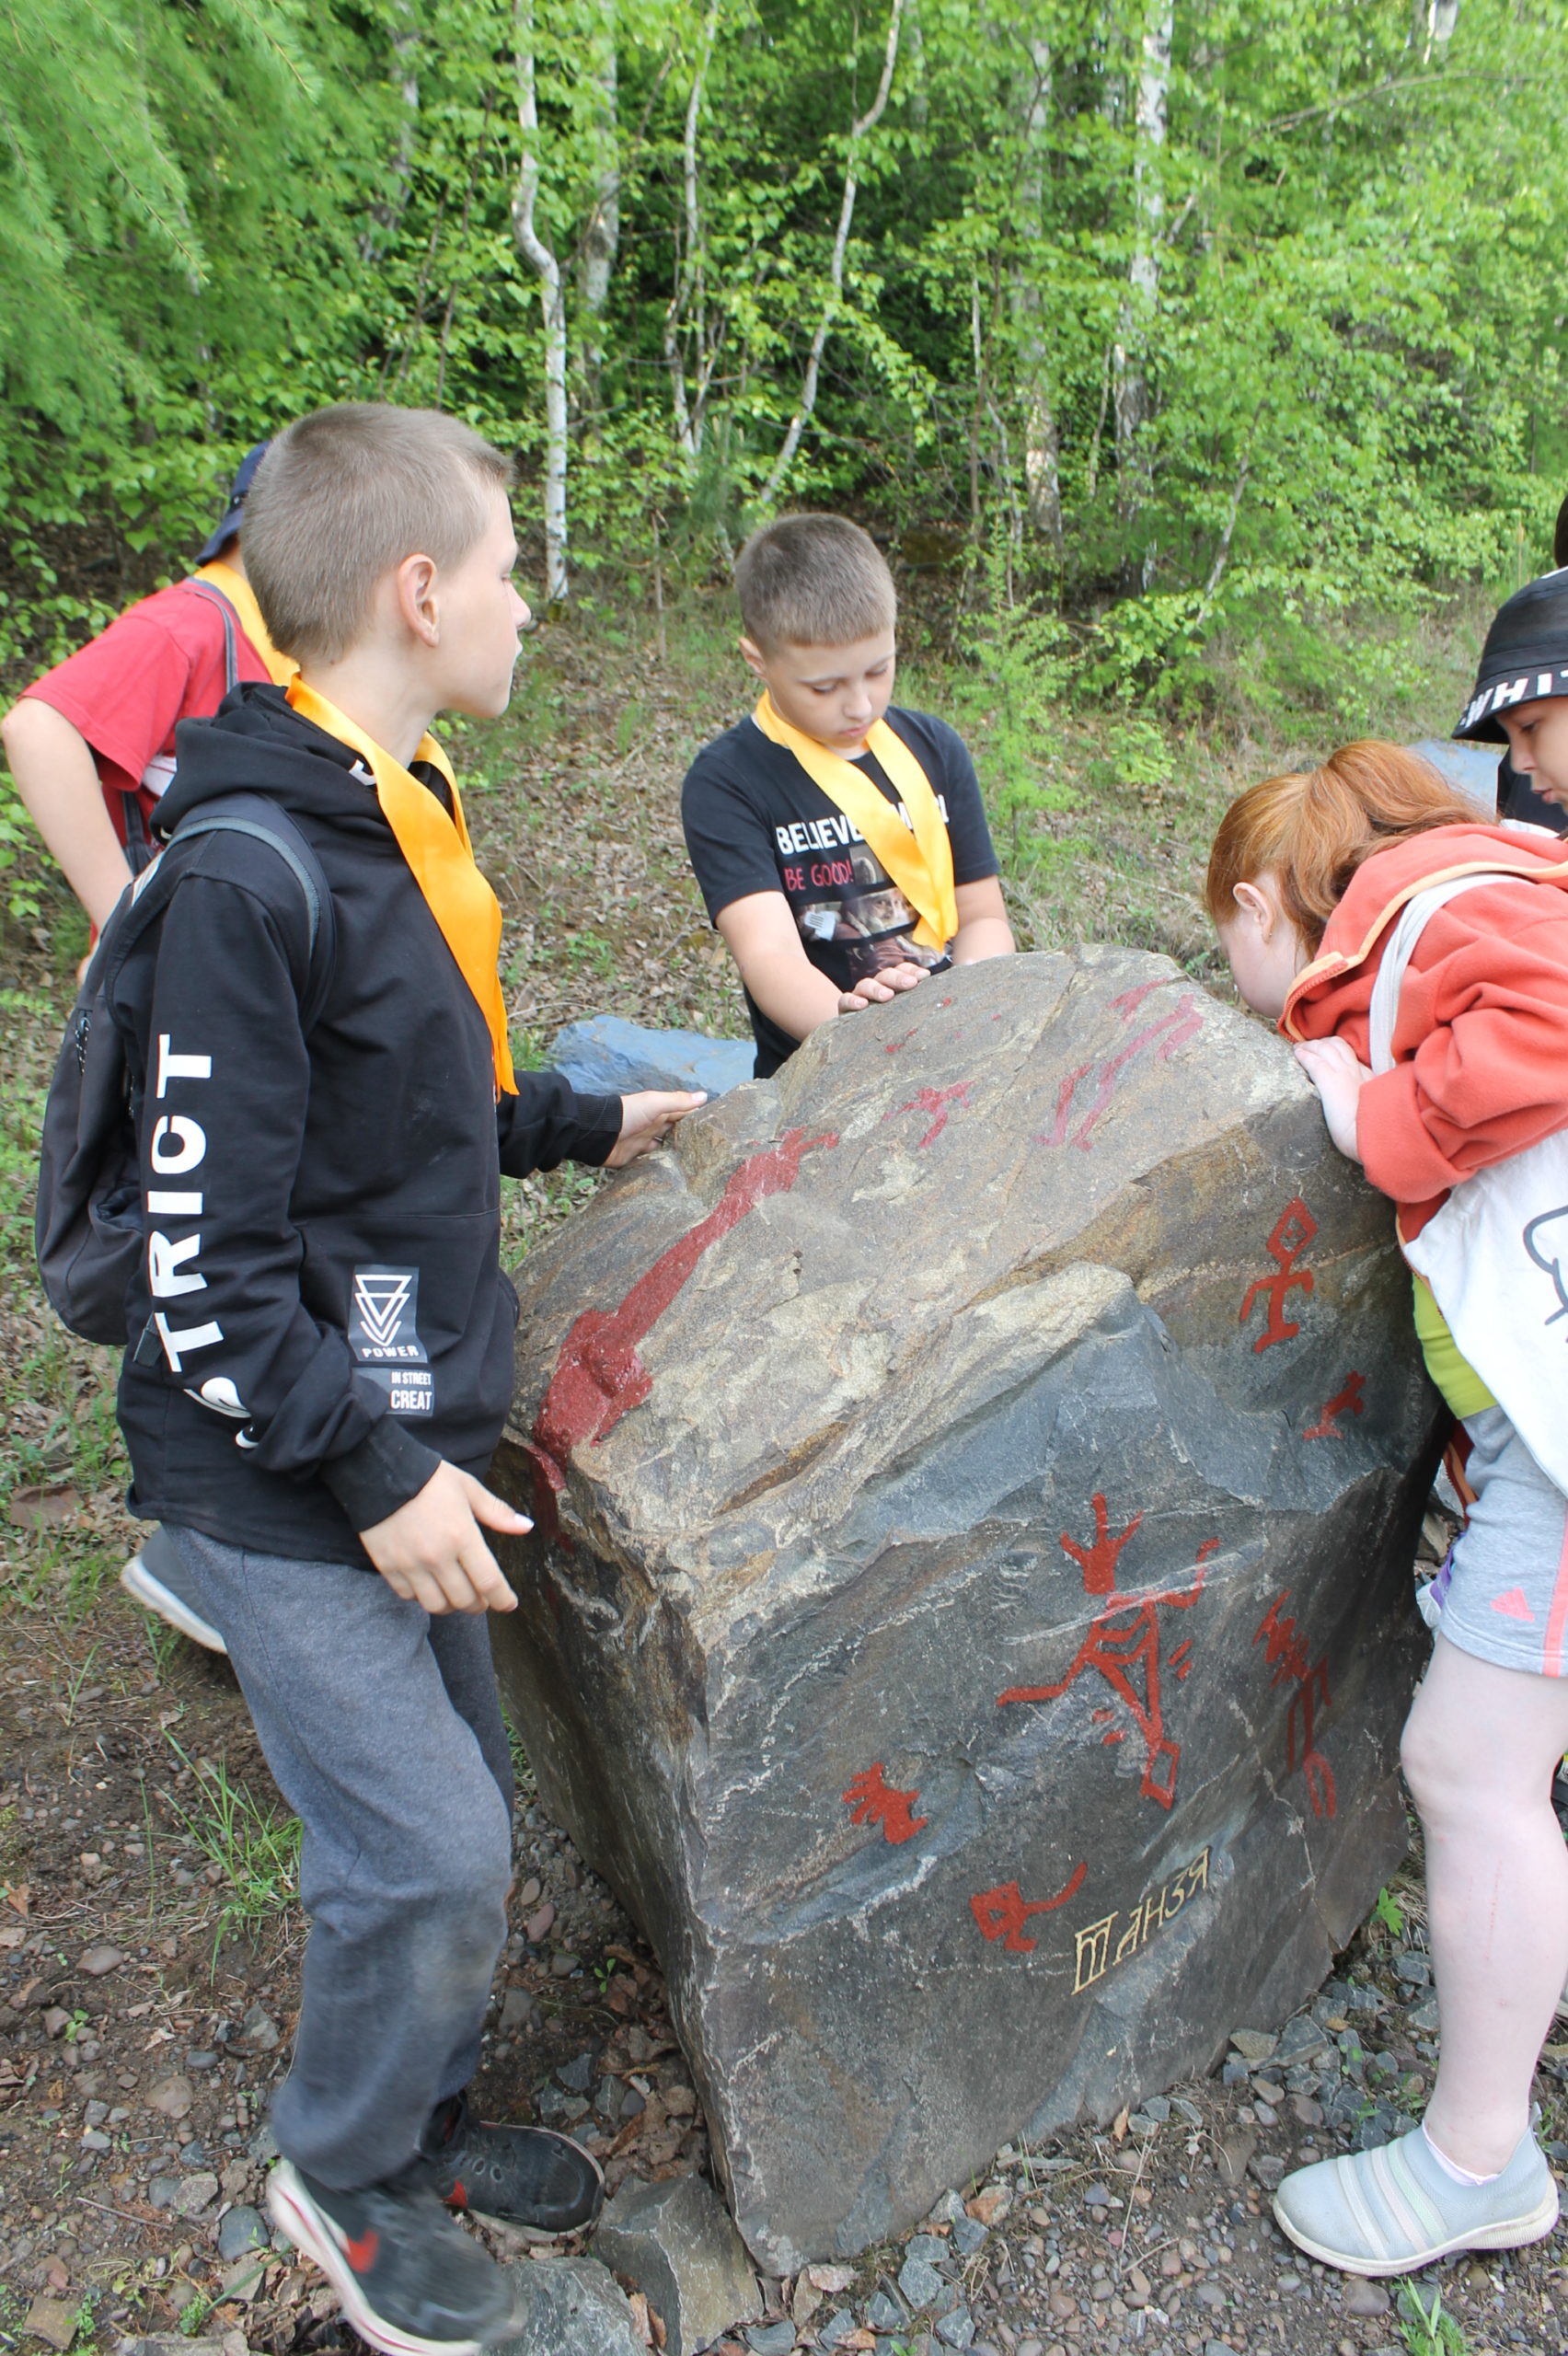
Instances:
[[[1238,794],[1220,820],[1208,855],[1203,898],[1215,924],[1236,916],[1236,886],[1274,876],[1281,907],[1309,949],[1375,851],[1389,851],[1431,827],[1476,827],[1483,815],[1460,801],[1429,761],[1361,737],[1340,744],[1314,770],[1264,777]]]

